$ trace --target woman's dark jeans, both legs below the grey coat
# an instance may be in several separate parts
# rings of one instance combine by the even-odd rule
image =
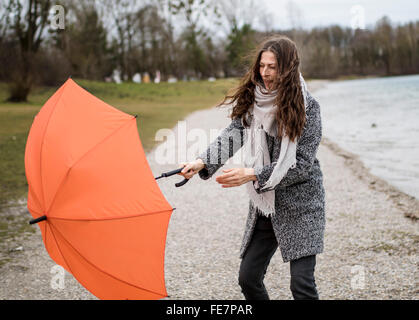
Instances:
[[[269,300],[263,279],[277,248],[271,219],[258,217],[252,240],[240,264],[239,285],[246,300]],[[319,298],[314,280],[315,265],[315,255],[290,261],[290,289],[295,300]]]

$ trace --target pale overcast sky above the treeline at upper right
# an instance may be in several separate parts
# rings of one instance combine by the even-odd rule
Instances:
[[[288,14],[290,0],[259,1],[265,2],[270,15],[268,20],[273,21],[275,29],[287,29],[291,26]],[[292,2],[293,11],[300,12],[301,18],[297,20],[304,29],[331,24],[350,27],[356,19],[355,15],[358,14],[359,17],[362,11],[367,28],[384,15],[393,23],[419,20],[418,0],[293,0]],[[355,7],[351,13],[351,8],[354,6],[360,6],[358,8],[361,10]],[[260,26],[263,29],[262,25]]]

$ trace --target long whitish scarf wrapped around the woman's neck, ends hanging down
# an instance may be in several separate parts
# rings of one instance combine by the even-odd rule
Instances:
[[[301,89],[304,97],[304,106],[307,109],[307,87],[304,78],[300,74]],[[277,136],[278,126],[275,121],[276,106],[274,105],[277,91],[270,94],[262,87],[255,88],[255,103],[251,108],[250,128],[245,130],[244,136],[244,164],[247,168],[263,167],[271,164],[266,135]],[[250,181],[247,185],[250,201],[253,207],[259,209],[265,216],[275,213],[275,186],[282,180],[290,168],[295,168],[297,141],[290,141],[283,132],[281,136],[281,149],[277,163],[272,174],[261,190],[271,190],[257,193],[259,183]]]

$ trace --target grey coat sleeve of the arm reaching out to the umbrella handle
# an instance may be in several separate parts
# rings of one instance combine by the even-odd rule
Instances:
[[[198,173],[201,179],[209,179],[243,146],[243,130],[241,119],[232,120],[207,150],[198,156],[205,164],[205,167]]]

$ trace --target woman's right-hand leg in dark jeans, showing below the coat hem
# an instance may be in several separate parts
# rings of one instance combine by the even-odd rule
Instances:
[[[290,262],[291,292],[295,300],[319,299],[316,282],[314,280],[314,267],[316,256],[307,256]]]

